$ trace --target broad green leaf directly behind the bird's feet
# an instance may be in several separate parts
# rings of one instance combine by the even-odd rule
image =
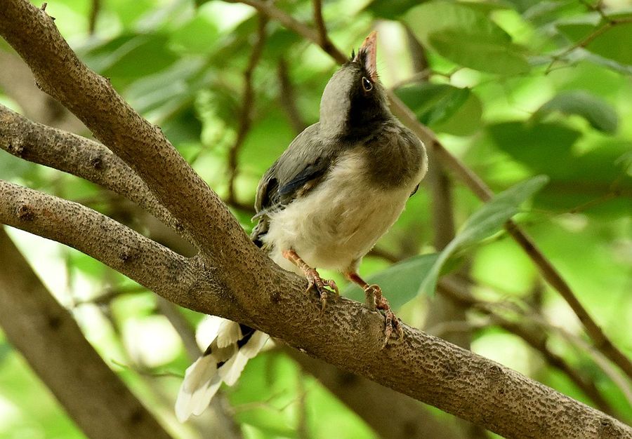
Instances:
[[[367,277],[368,283],[380,285],[388,302],[393,309],[397,309],[416,297],[421,281],[426,277],[430,267],[435,264],[438,255],[420,255],[404,259],[393,264],[388,269]],[[347,285],[343,291],[346,297],[364,302],[364,292],[356,285]]]

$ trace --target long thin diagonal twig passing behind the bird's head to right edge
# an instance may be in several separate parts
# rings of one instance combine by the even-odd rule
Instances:
[[[279,8],[272,6],[267,3],[263,3],[258,0],[230,0],[233,3],[243,3],[253,6],[260,13],[268,15],[268,17],[278,20],[282,25],[287,27],[288,29],[293,30],[297,34],[303,36],[303,38],[312,41],[320,46],[320,37],[314,29],[304,25],[301,22],[298,22],[290,15],[281,11]],[[629,19],[629,20],[632,20]],[[330,46],[320,46],[322,50],[331,55],[331,58],[334,58],[339,63],[346,62],[346,57],[343,53],[336,48],[333,44]],[[449,168],[454,172],[454,174],[459,177],[461,181],[463,181],[466,186],[473,191],[473,193],[478,196],[482,201],[488,201],[494,193],[492,192],[487,184],[483,182],[478,175],[476,175],[472,170],[470,170],[467,166],[465,166],[459,158],[452,155],[437,139],[437,135],[433,133],[430,128],[423,126],[414,116],[412,111],[395,95],[395,93],[389,91],[388,97],[390,98],[390,108],[393,111],[395,116],[399,117],[405,125],[411,128],[416,135],[418,135],[421,140],[434,149],[437,158],[442,161],[442,164]],[[518,242],[520,247],[527,253],[530,259],[536,264],[539,268],[541,275],[546,279],[546,281],[558,290],[563,299],[571,306],[574,313],[577,314],[577,317],[584,324],[586,328],[586,332],[588,337],[593,339],[595,343],[595,347],[602,351],[607,358],[621,367],[621,370],[626,372],[628,377],[632,378],[632,362],[629,358],[627,358],[624,353],[622,353],[617,346],[606,337],[603,333],[603,330],[595,323],[595,320],[588,314],[588,311],[581,305],[577,297],[574,295],[574,292],[570,289],[569,285],[562,278],[560,273],[553,267],[553,264],[546,259],[546,257],[542,254],[542,252],[535,246],[531,238],[525,234],[513,221],[508,221],[506,224],[506,229],[513,236],[515,241]]]

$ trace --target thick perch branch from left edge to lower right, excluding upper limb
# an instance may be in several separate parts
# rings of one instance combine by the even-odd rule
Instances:
[[[254,285],[239,278],[220,285],[213,268],[192,269],[192,262],[84,206],[6,182],[0,184],[0,200],[1,222],[72,245],[172,302],[254,325],[312,356],[507,437],[525,437],[525,432],[632,437],[632,429],[619,421],[418,330],[404,326],[404,341],[381,350],[381,316],[339,299],[319,318],[317,298],[305,295],[303,281],[280,269],[260,273],[258,301],[244,301],[242,309],[231,297]]]

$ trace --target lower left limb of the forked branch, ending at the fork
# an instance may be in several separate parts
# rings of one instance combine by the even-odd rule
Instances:
[[[202,285],[209,289],[199,257],[180,256],[79,203],[0,180],[0,222],[76,248],[183,306],[192,307]],[[219,302],[207,292],[207,313],[227,308]]]

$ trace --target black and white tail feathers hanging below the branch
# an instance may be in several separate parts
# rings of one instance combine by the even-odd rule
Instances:
[[[213,318],[221,320],[216,325],[213,341],[187,368],[180,386],[176,400],[176,417],[180,422],[192,414],[202,414],[223,382],[228,386],[235,384],[248,360],[256,356],[268,340],[267,334],[249,326]]]

